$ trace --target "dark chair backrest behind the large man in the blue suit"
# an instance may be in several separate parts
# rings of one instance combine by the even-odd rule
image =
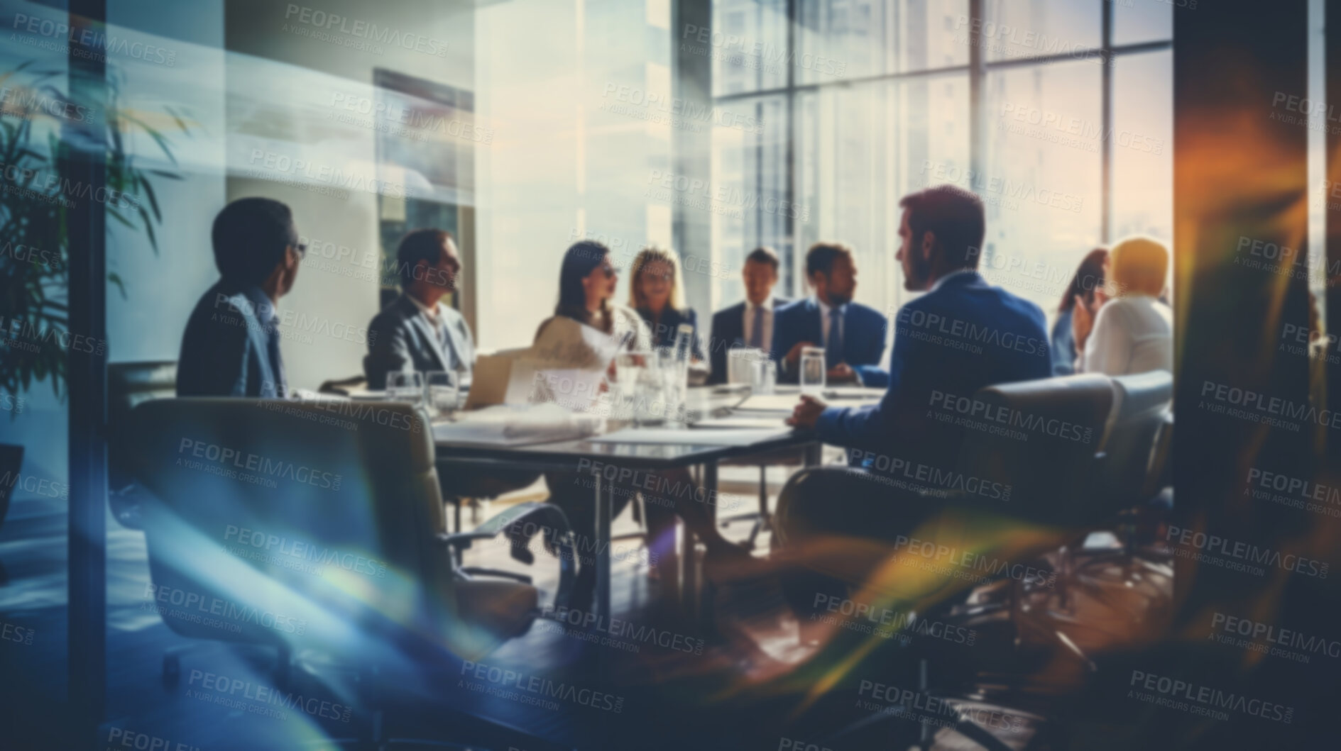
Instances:
[[[999,510],[1047,525],[1085,518],[1085,487],[1113,403],[1108,376],[1085,373],[990,386],[960,410],[960,471],[1010,485]]]

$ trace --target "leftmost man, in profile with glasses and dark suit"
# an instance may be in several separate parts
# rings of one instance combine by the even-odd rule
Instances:
[[[294,214],[270,198],[239,198],[211,230],[220,280],[186,320],[177,396],[284,398],[279,299],[298,278],[306,246]]]

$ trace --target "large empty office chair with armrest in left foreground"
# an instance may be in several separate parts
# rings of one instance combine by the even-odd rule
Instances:
[[[193,639],[275,648],[282,687],[295,647],[362,656],[359,675],[414,687],[437,675],[430,665],[476,660],[526,633],[539,613],[526,577],[491,580],[456,565],[461,549],[519,519],[561,530],[555,601],[567,601],[574,556],[562,510],[522,503],[447,534],[432,432],[409,404],[161,399],[131,416],[131,466],[150,494],[152,592],[170,605],[160,609],[165,624]],[[333,427],[333,416],[355,427]],[[209,617],[182,606],[190,602],[211,604]],[[378,736],[382,697],[363,699]],[[552,747],[461,719],[504,746]]]

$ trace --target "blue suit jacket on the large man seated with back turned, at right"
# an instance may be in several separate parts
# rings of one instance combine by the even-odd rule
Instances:
[[[932,415],[933,391],[971,398],[986,386],[1049,376],[1043,311],[976,272],[957,273],[898,309],[889,388],[880,404],[830,407],[815,428],[825,443],[884,454],[886,463],[919,461],[952,470],[961,428]]]

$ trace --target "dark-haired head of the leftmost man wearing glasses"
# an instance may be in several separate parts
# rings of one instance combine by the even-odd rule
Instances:
[[[294,213],[271,198],[239,198],[215,217],[209,233],[215,265],[227,281],[260,284],[298,245]]]

